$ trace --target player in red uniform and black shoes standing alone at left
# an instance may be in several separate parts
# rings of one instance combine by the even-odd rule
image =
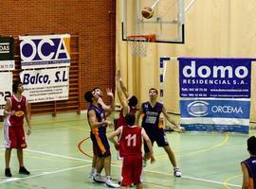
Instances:
[[[27,135],[31,133],[30,125],[30,114],[28,110],[27,97],[22,93],[24,88],[21,82],[14,81],[12,84],[13,94],[7,99],[7,104],[5,107],[5,128],[4,128],[4,137],[5,137],[5,160],[6,160],[6,170],[5,176],[12,177],[12,174],[9,169],[9,160],[11,149],[17,149],[17,157],[20,165],[19,173],[24,175],[29,175],[29,171],[24,166],[23,161],[23,148],[27,147],[25,133],[24,133],[24,117],[27,121]]]

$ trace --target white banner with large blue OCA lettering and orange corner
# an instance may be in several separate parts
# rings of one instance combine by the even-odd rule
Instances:
[[[70,66],[70,35],[19,36],[22,69]]]

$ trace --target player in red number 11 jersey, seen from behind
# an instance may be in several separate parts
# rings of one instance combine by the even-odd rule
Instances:
[[[148,146],[148,157],[151,163],[155,162],[151,141],[144,129],[135,126],[136,115],[134,113],[127,113],[125,121],[127,125],[119,127],[113,131],[108,139],[119,150],[122,158],[121,168],[121,188],[129,188],[133,183],[137,189],[143,188],[142,184],[142,138]],[[117,142],[114,138],[118,136]]]

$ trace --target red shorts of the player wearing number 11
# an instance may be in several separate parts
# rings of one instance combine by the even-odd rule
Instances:
[[[126,156],[122,161],[121,186],[142,182],[142,156]]]

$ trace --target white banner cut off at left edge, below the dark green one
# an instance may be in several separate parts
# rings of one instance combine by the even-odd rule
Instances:
[[[11,95],[12,73],[1,72],[0,74],[0,115],[4,115],[7,97]]]

